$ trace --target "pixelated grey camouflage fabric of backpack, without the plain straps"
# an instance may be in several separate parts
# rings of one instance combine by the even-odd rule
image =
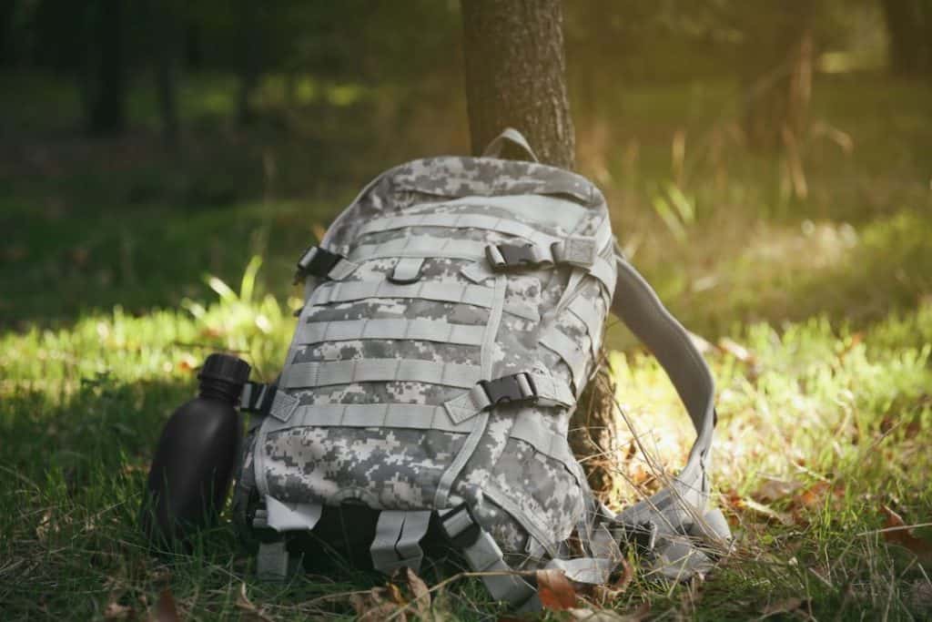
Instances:
[[[541,201],[553,209],[534,212],[528,208]],[[470,214],[489,216],[532,229],[539,240],[494,228],[394,227],[387,220],[418,214],[449,214],[451,220]],[[380,226],[383,222],[385,227]],[[363,231],[367,223],[373,225]],[[353,256],[358,264],[339,283],[385,283],[391,280],[399,257],[356,257],[357,249],[388,242],[404,244],[414,238],[435,241],[438,249],[459,242],[467,242],[460,246],[470,249],[477,243],[479,247],[525,245],[541,239],[596,236],[607,227],[602,195],[579,175],[528,162],[434,158],[383,173],[336,220],[322,247]],[[598,250],[601,256],[611,257],[610,236]],[[453,249],[421,256],[417,283],[442,283],[450,286],[449,291],[477,285],[497,291],[496,273],[484,254],[470,253],[473,256]],[[566,264],[505,274],[500,299],[488,306],[422,297],[308,303],[299,323],[443,320],[482,327],[486,339],[476,345],[368,338],[301,343],[301,331],[297,331],[283,374],[290,366],[311,362],[404,359],[483,366],[485,361],[485,380],[534,372],[569,386],[579,396],[595,371],[593,354],[601,344],[611,292],[587,270]],[[329,288],[339,283],[313,284]],[[314,288],[308,287],[308,293]],[[498,313],[497,305],[504,311]],[[540,319],[509,311],[522,305],[537,311]],[[589,310],[587,317],[571,310],[579,305]],[[569,345],[560,352],[552,343]],[[289,389],[288,393],[297,398],[299,408],[333,404],[443,407],[464,390],[387,377]],[[463,456],[466,460],[452,482],[447,506],[470,504],[474,518],[493,535],[514,566],[533,567],[548,557],[566,554],[567,541],[591,519],[593,511],[591,492],[565,440],[572,409],[571,405],[543,403],[499,405],[488,410],[487,417],[477,414],[469,419],[472,423],[465,432],[291,423],[276,424],[274,430],[260,427],[254,442],[246,446],[237,499],[255,496],[256,489],[259,496],[285,503],[340,505],[355,500],[382,510],[444,509],[434,505],[439,482],[468,446],[467,436],[473,434],[478,443]],[[535,447],[527,434],[514,435],[519,420],[532,422],[526,422],[523,429],[537,431],[534,434],[540,438],[559,441]]]

